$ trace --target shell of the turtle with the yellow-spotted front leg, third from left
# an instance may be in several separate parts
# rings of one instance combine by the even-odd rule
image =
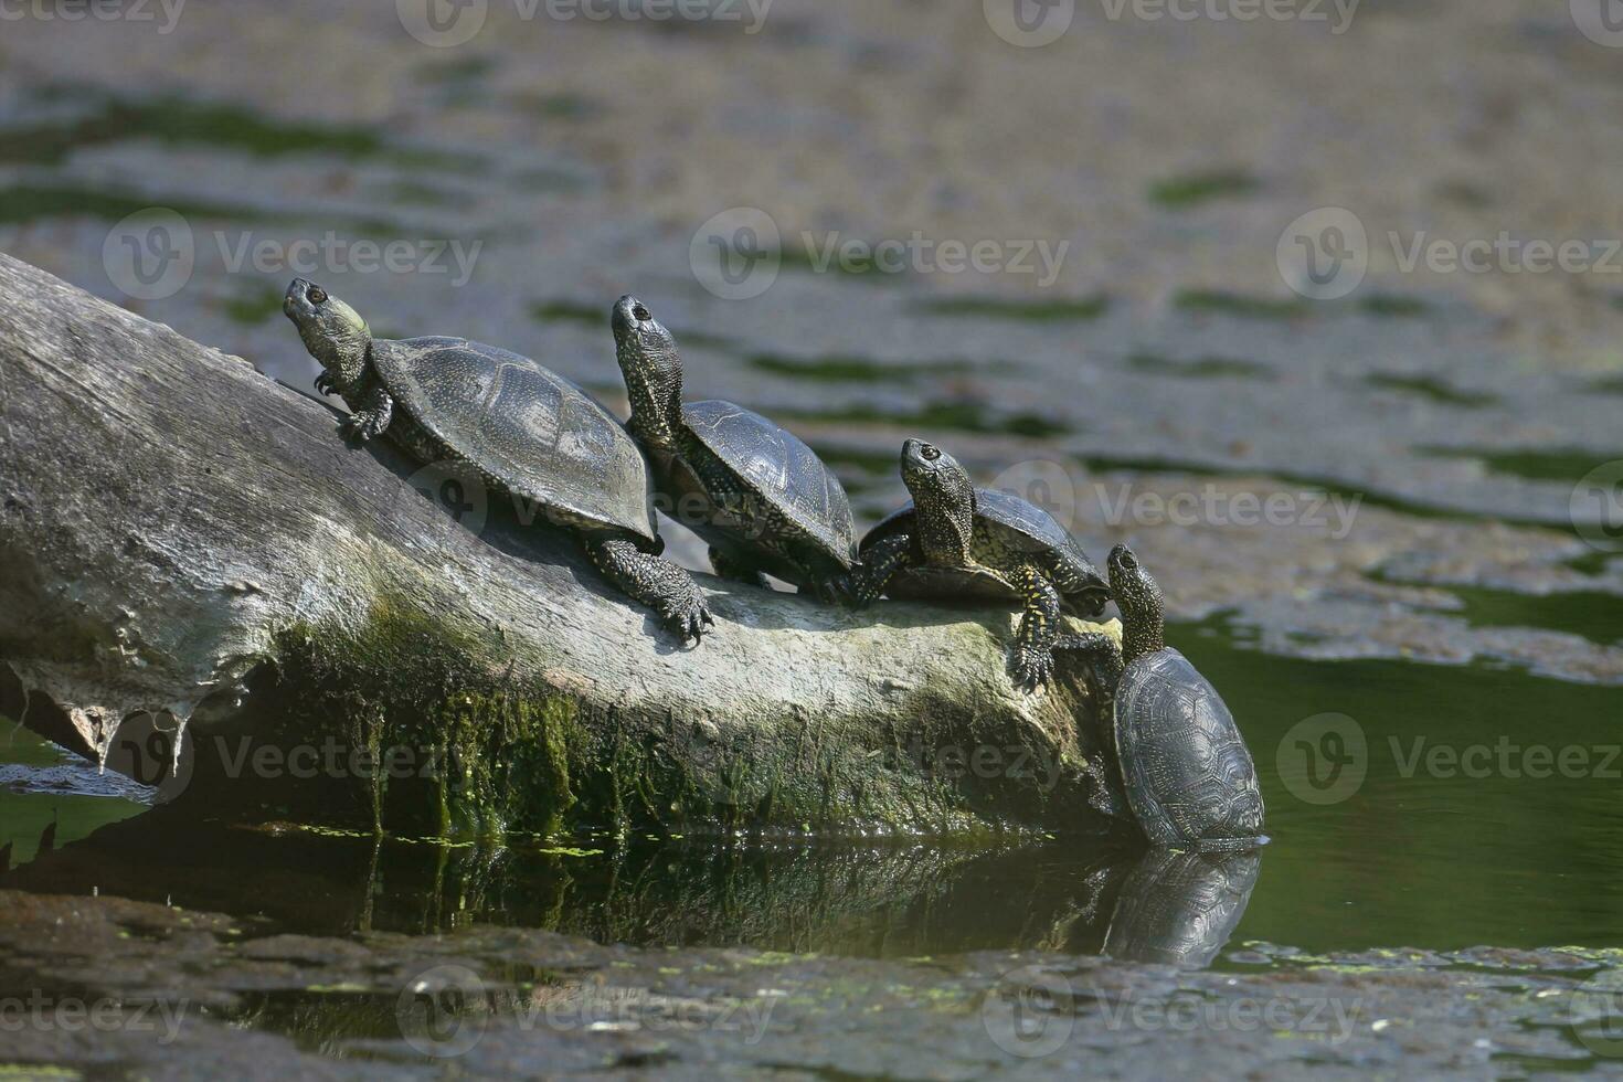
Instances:
[[[1099,568],[1076,543],[1076,539],[1052,514],[1029,500],[995,488],[977,488],[975,526],[987,530],[1006,550],[1053,553],[1074,577],[1097,582],[1100,590],[1105,589],[1104,576],[1099,574]],[[867,550],[880,539],[904,530],[915,532],[912,500],[868,530],[862,539],[862,548]],[[891,597],[953,595],[967,600],[1021,600],[1019,592],[1003,576],[987,568],[914,565],[898,573],[886,592]]]

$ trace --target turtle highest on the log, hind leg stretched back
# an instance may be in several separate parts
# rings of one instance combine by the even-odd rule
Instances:
[[[493,492],[573,530],[604,576],[682,641],[714,625],[693,577],[661,558],[641,449],[591,394],[464,337],[372,337],[354,308],[305,279],[287,287],[282,311],[321,363],[316,389],[354,410],[346,436],[386,435],[422,464],[477,470]]]

